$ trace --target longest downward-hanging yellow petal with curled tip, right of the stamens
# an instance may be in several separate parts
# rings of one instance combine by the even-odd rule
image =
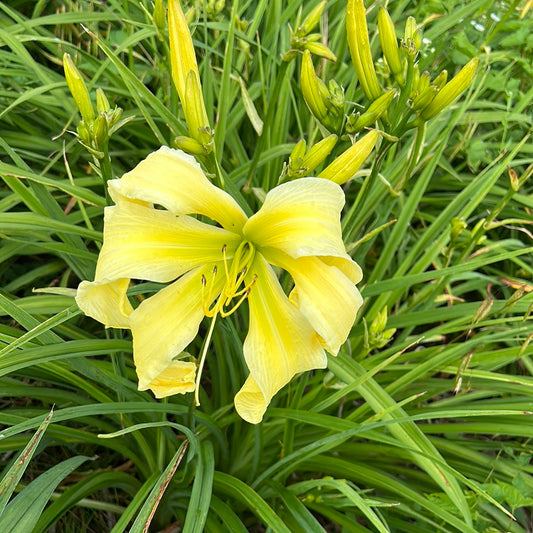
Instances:
[[[291,378],[313,368],[326,367],[320,338],[302,313],[289,302],[272,267],[260,254],[247,281],[257,276],[248,296],[250,327],[244,358],[250,376],[235,396],[239,415],[257,424],[270,400]]]

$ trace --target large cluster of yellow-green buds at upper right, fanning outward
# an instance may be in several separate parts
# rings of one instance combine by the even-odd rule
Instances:
[[[398,86],[397,92],[400,94],[398,106],[401,109],[399,109],[400,113],[396,113],[396,118],[402,114],[405,117],[406,114],[415,113],[414,120],[407,125],[410,127],[419,126],[440,113],[466,90],[474,78],[479,60],[474,58],[469,61],[450,81],[447,81],[446,71],[442,71],[431,81],[429,73],[419,73],[416,63],[422,44],[422,32],[415,19],[413,17],[407,19],[403,38],[399,42],[394,23],[384,7],[379,8],[377,18],[384,62],[390,78]],[[372,102],[365,113],[361,117],[357,117],[357,119],[362,119],[363,116],[367,115],[364,120],[359,121],[356,126],[349,123],[349,127],[353,131],[357,131],[358,127],[365,127],[362,124],[371,120],[373,116],[379,118],[375,115],[375,109],[372,106],[379,102],[379,109],[386,108],[391,105],[392,97],[390,90],[383,90],[378,81],[370,50],[363,0],[348,0],[346,29],[357,78],[364,94]],[[407,113],[404,113],[404,108],[407,109]],[[387,118],[387,114],[384,112],[381,113],[381,116]],[[353,119],[352,122],[357,122],[357,119]],[[406,121],[401,120],[400,123],[406,124]],[[394,126],[392,124],[393,130]],[[395,131],[395,133],[401,134],[402,132]]]

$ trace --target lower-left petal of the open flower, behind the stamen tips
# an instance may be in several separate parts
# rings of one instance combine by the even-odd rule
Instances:
[[[153,380],[166,372],[175,357],[196,337],[204,317],[202,275],[210,276],[213,266],[204,265],[187,272],[144,300],[130,315],[139,390],[150,388]],[[218,271],[223,272],[222,264],[218,264]],[[211,301],[224,282],[223,275],[215,276]]]

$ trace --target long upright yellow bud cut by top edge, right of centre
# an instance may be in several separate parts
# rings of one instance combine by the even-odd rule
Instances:
[[[359,83],[367,98],[376,100],[381,95],[381,88],[372,62],[363,0],[348,0],[346,33]]]

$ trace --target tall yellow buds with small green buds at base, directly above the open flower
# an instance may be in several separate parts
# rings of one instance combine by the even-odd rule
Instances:
[[[168,2],[168,34],[172,79],[189,133],[176,137],[173,144],[190,154],[205,156],[214,149],[213,131],[207,118],[191,33],[179,0]]]

